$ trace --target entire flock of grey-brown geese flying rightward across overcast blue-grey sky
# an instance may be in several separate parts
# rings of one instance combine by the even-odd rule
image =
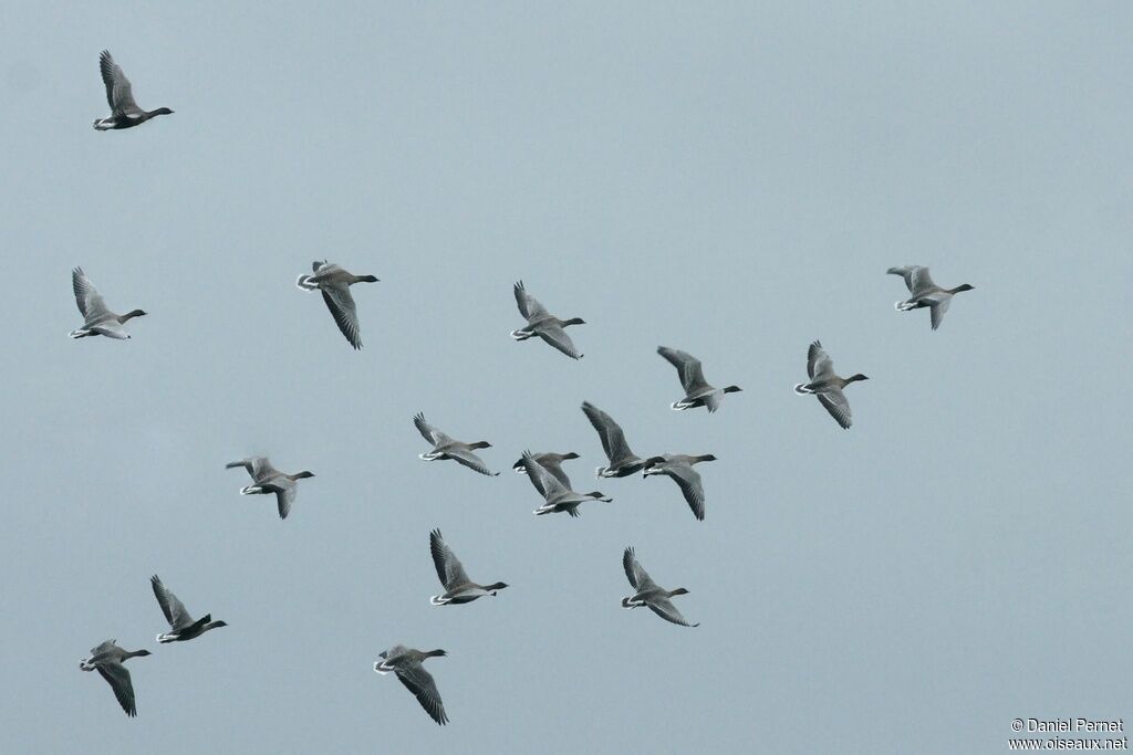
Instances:
[[[110,115],[94,121],[96,130],[133,128],[156,115],[167,115],[173,112],[168,108],[142,110],[134,100],[129,79],[114,62],[110,52],[102,52],[99,68],[107,87],[107,101],[111,112]],[[953,297],[973,288],[964,284],[954,289],[943,289],[932,282],[927,267],[918,265],[892,267],[888,269],[888,274],[902,276],[909,289],[909,298],[897,301],[895,308],[898,311],[928,308],[934,331],[940,326]],[[334,318],[334,324],[347,342],[353,349],[361,349],[361,328],[358,324],[358,310],[350,293],[350,286],[356,283],[375,283],[377,281],[378,278],[373,275],[355,275],[339,265],[326,260],[316,260],[312,264],[312,274],[300,275],[296,285],[304,291],[320,291],[326,308]],[[109,309],[82,267],[76,267],[71,272],[71,284],[75,291],[75,301],[83,316],[82,327],[69,334],[73,338],[97,335],[116,340],[129,338],[130,334],[126,329],[126,324],[146,314],[140,309],[134,309],[125,315],[118,315]],[[585,321],[581,318],[572,317],[563,320],[555,317],[528,293],[522,281],[514,284],[513,291],[519,312],[527,320],[527,325],[512,331],[512,338],[526,341],[538,336],[571,359],[582,358],[582,353],[578,351],[564,329],[572,325],[583,325]],[[682,398],[671,404],[673,410],[684,411],[702,406],[708,412],[716,412],[721,409],[725,394],[741,391],[736,385],[729,385],[724,388],[714,387],[705,379],[700,360],[684,351],[658,346],[657,353],[676,368],[684,393]],[[816,396],[842,428],[850,428],[852,414],[844,389],[851,383],[868,378],[860,372],[845,378],[838,376],[834,371],[833,360],[818,341],[811,343],[807,350],[807,383],[794,386],[795,393]],[[605,466],[598,466],[595,470],[596,478],[623,478],[638,472],[641,472],[645,478],[658,474],[667,475],[680,488],[693,516],[699,521],[705,518],[704,484],[700,473],[695,467],[701,462],[716,461],[715,456],[712,454],[665,454],[642,458],[631,451],[625,439],[625,432],[610,414],[589,402],[582,402],[581,409],[597,431],[607,458]],[[425,419],[424,413],[414,417],[414,424],[431,446],[429,451],[420,454],[421,460],[428,462],[449,460],[479,474],[491,477],[500,474],[493,472],[476,454],[482,448],[492,447],[488,441],[465,443],[455,440],[431,424]],[[535,509],[536,515],[565,513],[577,517],[582,504],[612,500],[600,491],[577,492],[574,490],[574,486],[563,471],[562,465],[563,462],[578,457],[579,455],[573,452],[560,454],[525,451],[519,461],[514,463],[512,469],[518,473],[526,474],[542,497],[543,503]],[[287,518],[291,512],[298,491],[298,481],[315,477],[309,471],[293,474],[281,472],[263,456],[242,458],[227,464],[227,469],[236,467],[244,467],[252,478],[252,483],[241,488],[240,494],[274,495],[280,518]],[[436,567],[437,578],[444,587],[443,593],[429,599],[433,606],[469,603],[486,595],[496,595],[508,586],[503,582],[492,584],[472,582],[452,548],[441,535],[440,530],[433,530],[429,533],[429,551]],[[698,626],[685,620],[672,602],[673,597],[688,594],[688,590],[684,587],[666,590],[659,586],[641,566],[633,548],[627,548],[622,554],[622,567],[625,572],[625,578],[633,590],[632,595],[622,599],[623,608],[646,607],[666,621],[687,627]],[[185,604],[165,587],[156,575],[151,578],[151,587],[162,615],[170,626],[169,632],[157,635],[159,643],[187,642],[212,629],[227,626],[224,621],[213,620],[210,614],[194,619],[186,610]],[[123,663],[131,658],[150,654],[151,652],[147,650],[125,650],[117,644],[117,641],[108,640],[91,649],[91,655],[79,663],[79,668],[84,671],[97,671],[110,684],[126,714],[134,717],[137,714],[134,686],[130,674]],[[445,654],[444,650],[420,651],[399,644],[378,654],[381,660],[374,663],[374,670],[383,675],[392,671],[401,684],[414,693],[425,712],[437,723],[444,724],[449,720],[444,703],[437,690],[436,681],[425,670],[423,663],[426,659],[443,658]]]

